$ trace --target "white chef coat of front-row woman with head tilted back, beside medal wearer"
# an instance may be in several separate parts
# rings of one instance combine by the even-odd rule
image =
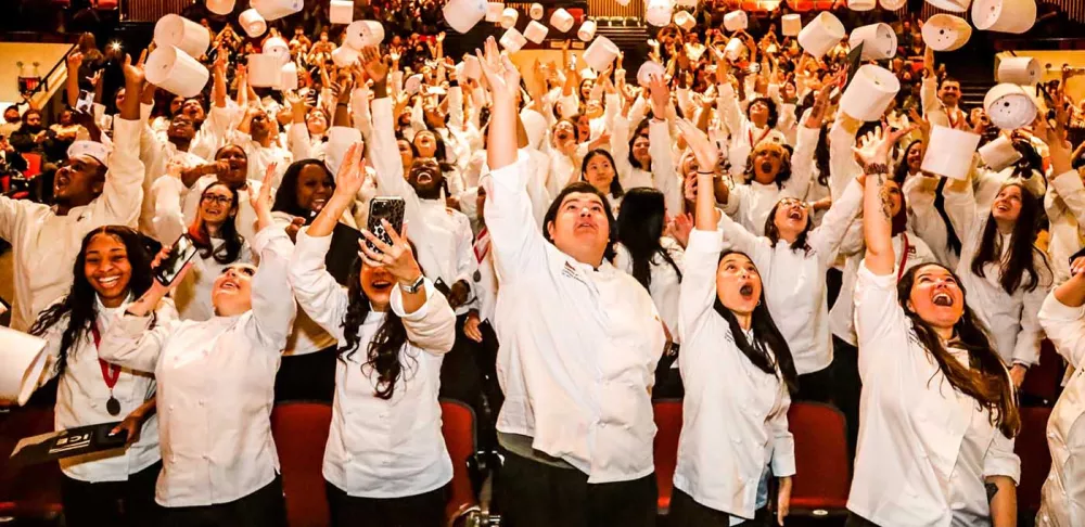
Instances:
[[[122,314],[103,335],[103,358],[154,371],[158,381],[163,471],[155,501],[163,506],[229,503],[279,472],[271,404],[294,320],[286,279],[293,246],[270,226],[255,247],[260,267],[252,279],[252,310],[150,330],[150,317]]]

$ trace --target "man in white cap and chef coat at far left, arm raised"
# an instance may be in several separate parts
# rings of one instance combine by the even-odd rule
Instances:
[[[143,87],[143,70],[128,57],[125,86]],[[106,224],[135,227],[142,200],[139,98],[126,99],[105,145],[76,141],[53,179],[53,205],[0,196],[0,237],[13,247],[15,299],[11,326],[25,331],[72,285],[72,264],[88,232]]]

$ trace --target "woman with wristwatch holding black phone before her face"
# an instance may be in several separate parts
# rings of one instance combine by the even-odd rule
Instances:
[[[456,314],[391,224],[391,245],[365,232],[379,250],[359,243],[346,290],[324,268],[335,222],[366,179],[361,151],[348,152],[332,197],[297,233],[290,267],[302,309],[339,340],[323,463],[332,525],[438,527],[452,463],[437,390]]]

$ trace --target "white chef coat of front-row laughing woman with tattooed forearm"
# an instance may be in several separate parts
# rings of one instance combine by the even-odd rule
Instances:
[[[847,509],[878,525],[990,525],[983,478],[1020,480],[1013,440],[991,424],[988,410],[949,385],[917,339],[896,284],[895,270],[877,275],[859,265],[863,395]]]

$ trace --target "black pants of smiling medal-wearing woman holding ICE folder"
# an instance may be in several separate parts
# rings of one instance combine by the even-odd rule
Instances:
[[[61,502],[68,527],[152,527],[158,525],[162,507],[154,502],[154,484],[162,462],[136,474],[127,481],[87,483],[61,476]]]

